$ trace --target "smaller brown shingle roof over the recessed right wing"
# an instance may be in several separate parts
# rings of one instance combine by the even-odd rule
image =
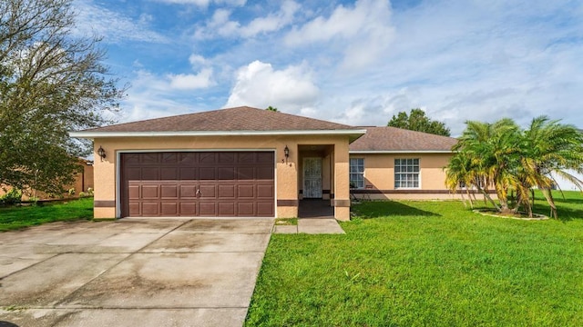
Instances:
[[[351,152],[445,152],[457,143],[453,137],[395,127],[363,127],[366,134],[350,144]]]

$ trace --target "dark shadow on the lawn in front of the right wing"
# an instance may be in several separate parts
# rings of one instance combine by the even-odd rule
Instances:
[[[362,219],[380,218],[391,215],[398,216],[433,216],[440,217],[441,214],[424,211],[404,203],[395,201],[363,202],[353,205],[351,210],[357,217]]]

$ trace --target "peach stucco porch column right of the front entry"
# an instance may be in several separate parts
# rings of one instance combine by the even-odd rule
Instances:
[[[350,176],[348,139],[334,144],[334,218],[350,220]]]

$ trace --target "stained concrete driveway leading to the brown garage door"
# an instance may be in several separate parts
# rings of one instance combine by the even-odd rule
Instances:
[[[0,326],[240,326],[272,225],[123,219],[0,233]]]

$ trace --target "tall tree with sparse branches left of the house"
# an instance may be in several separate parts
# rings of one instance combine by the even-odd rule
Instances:
[[[87,145],[67,132],[107,123],[125,91],[95,37],[74,37],[72,0],[0,2],[0,183],[61,193]]]

